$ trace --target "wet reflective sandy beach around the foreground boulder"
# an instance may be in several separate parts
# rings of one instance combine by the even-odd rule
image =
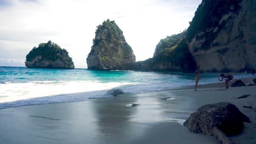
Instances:
[[[234,82],[235,80],[232,80]],[[252,78],[243,79],[247,85]],[[200,82],[199,82],[200,84]],[[219,143],[182,124],[205,104],[229,102],[248,116],[237,143],[256,143],[256,86],[224,83],[0,110],[0,143]],[[247,98],[237,99],[245,94]],[[132,107],[131,104],[138,104]],[[252,106],[252,109],[243,106]]]

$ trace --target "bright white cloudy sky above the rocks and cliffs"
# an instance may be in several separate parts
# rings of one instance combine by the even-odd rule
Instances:
[[[188,28],[201,0],[0,0],[0,66],[25,67],[34,46],[51,40],[75,68],[87,68],[96,26],[109,19],[123,31],[136,61],[153,57],[167,35]]]

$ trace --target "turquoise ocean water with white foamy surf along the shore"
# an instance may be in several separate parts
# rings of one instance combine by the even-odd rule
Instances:
[[[218,77],[219,73],[202,73],[199,84],[219,82]],[[113,97],[113,88],[137,94],[189,85],[194,85],[192,73],[0,67],[0,109]]]

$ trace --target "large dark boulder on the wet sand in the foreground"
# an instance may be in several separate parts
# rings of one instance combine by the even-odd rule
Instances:
[[[213,135],[220,143],[235,143],[226,135],[241,133],[243,122],[251,121],[235,105],[222,102],[201,106],[183,125],[194,133]]]

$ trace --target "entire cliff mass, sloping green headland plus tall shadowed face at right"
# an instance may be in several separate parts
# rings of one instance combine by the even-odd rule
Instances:
[[[240,72],[256,69],[256,2],[203,0],[188,29],[161,39],[153,58],[130,70]]]

